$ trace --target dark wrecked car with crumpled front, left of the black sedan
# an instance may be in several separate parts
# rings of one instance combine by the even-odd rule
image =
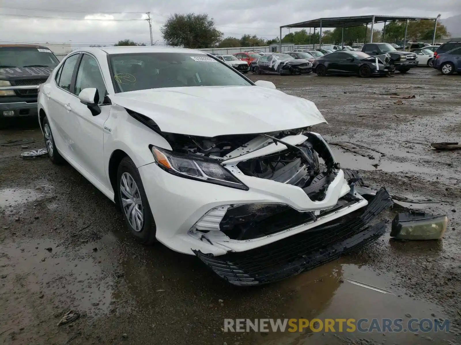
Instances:
[[[312,63],[304,59],[295,59],[288,54],[274,53],[263,55],[258,60],[254,60],[250,69],[254,74],[309,74],[312,72]]]

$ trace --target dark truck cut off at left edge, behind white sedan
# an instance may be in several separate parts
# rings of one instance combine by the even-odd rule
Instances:
[[[59,61],[46,46],[0,44],[0,127],[8,118],[37,118],[37,95]]]

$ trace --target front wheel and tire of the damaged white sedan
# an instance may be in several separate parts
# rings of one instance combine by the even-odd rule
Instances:
[[[124,187],[122,187],[124,186]],[[131,235],[140,243],[157,242],[154,217],[150,210],[141,176],[129,157],[122,159],[117,170],[118,202]],[[133,201],[135,202],[127,202]]]

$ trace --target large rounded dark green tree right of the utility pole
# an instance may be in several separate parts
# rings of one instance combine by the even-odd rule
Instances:
[[[223,36],[216,29],[214,19],[206,13],[175,13],[166,20],[160,31],[167,44],[194,49],[216,46]]]

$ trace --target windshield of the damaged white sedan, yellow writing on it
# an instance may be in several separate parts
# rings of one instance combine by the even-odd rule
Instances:
[[[205,54],[113,54],[109,59],[117,92],[159,87],[251,85],[227,65]]]

